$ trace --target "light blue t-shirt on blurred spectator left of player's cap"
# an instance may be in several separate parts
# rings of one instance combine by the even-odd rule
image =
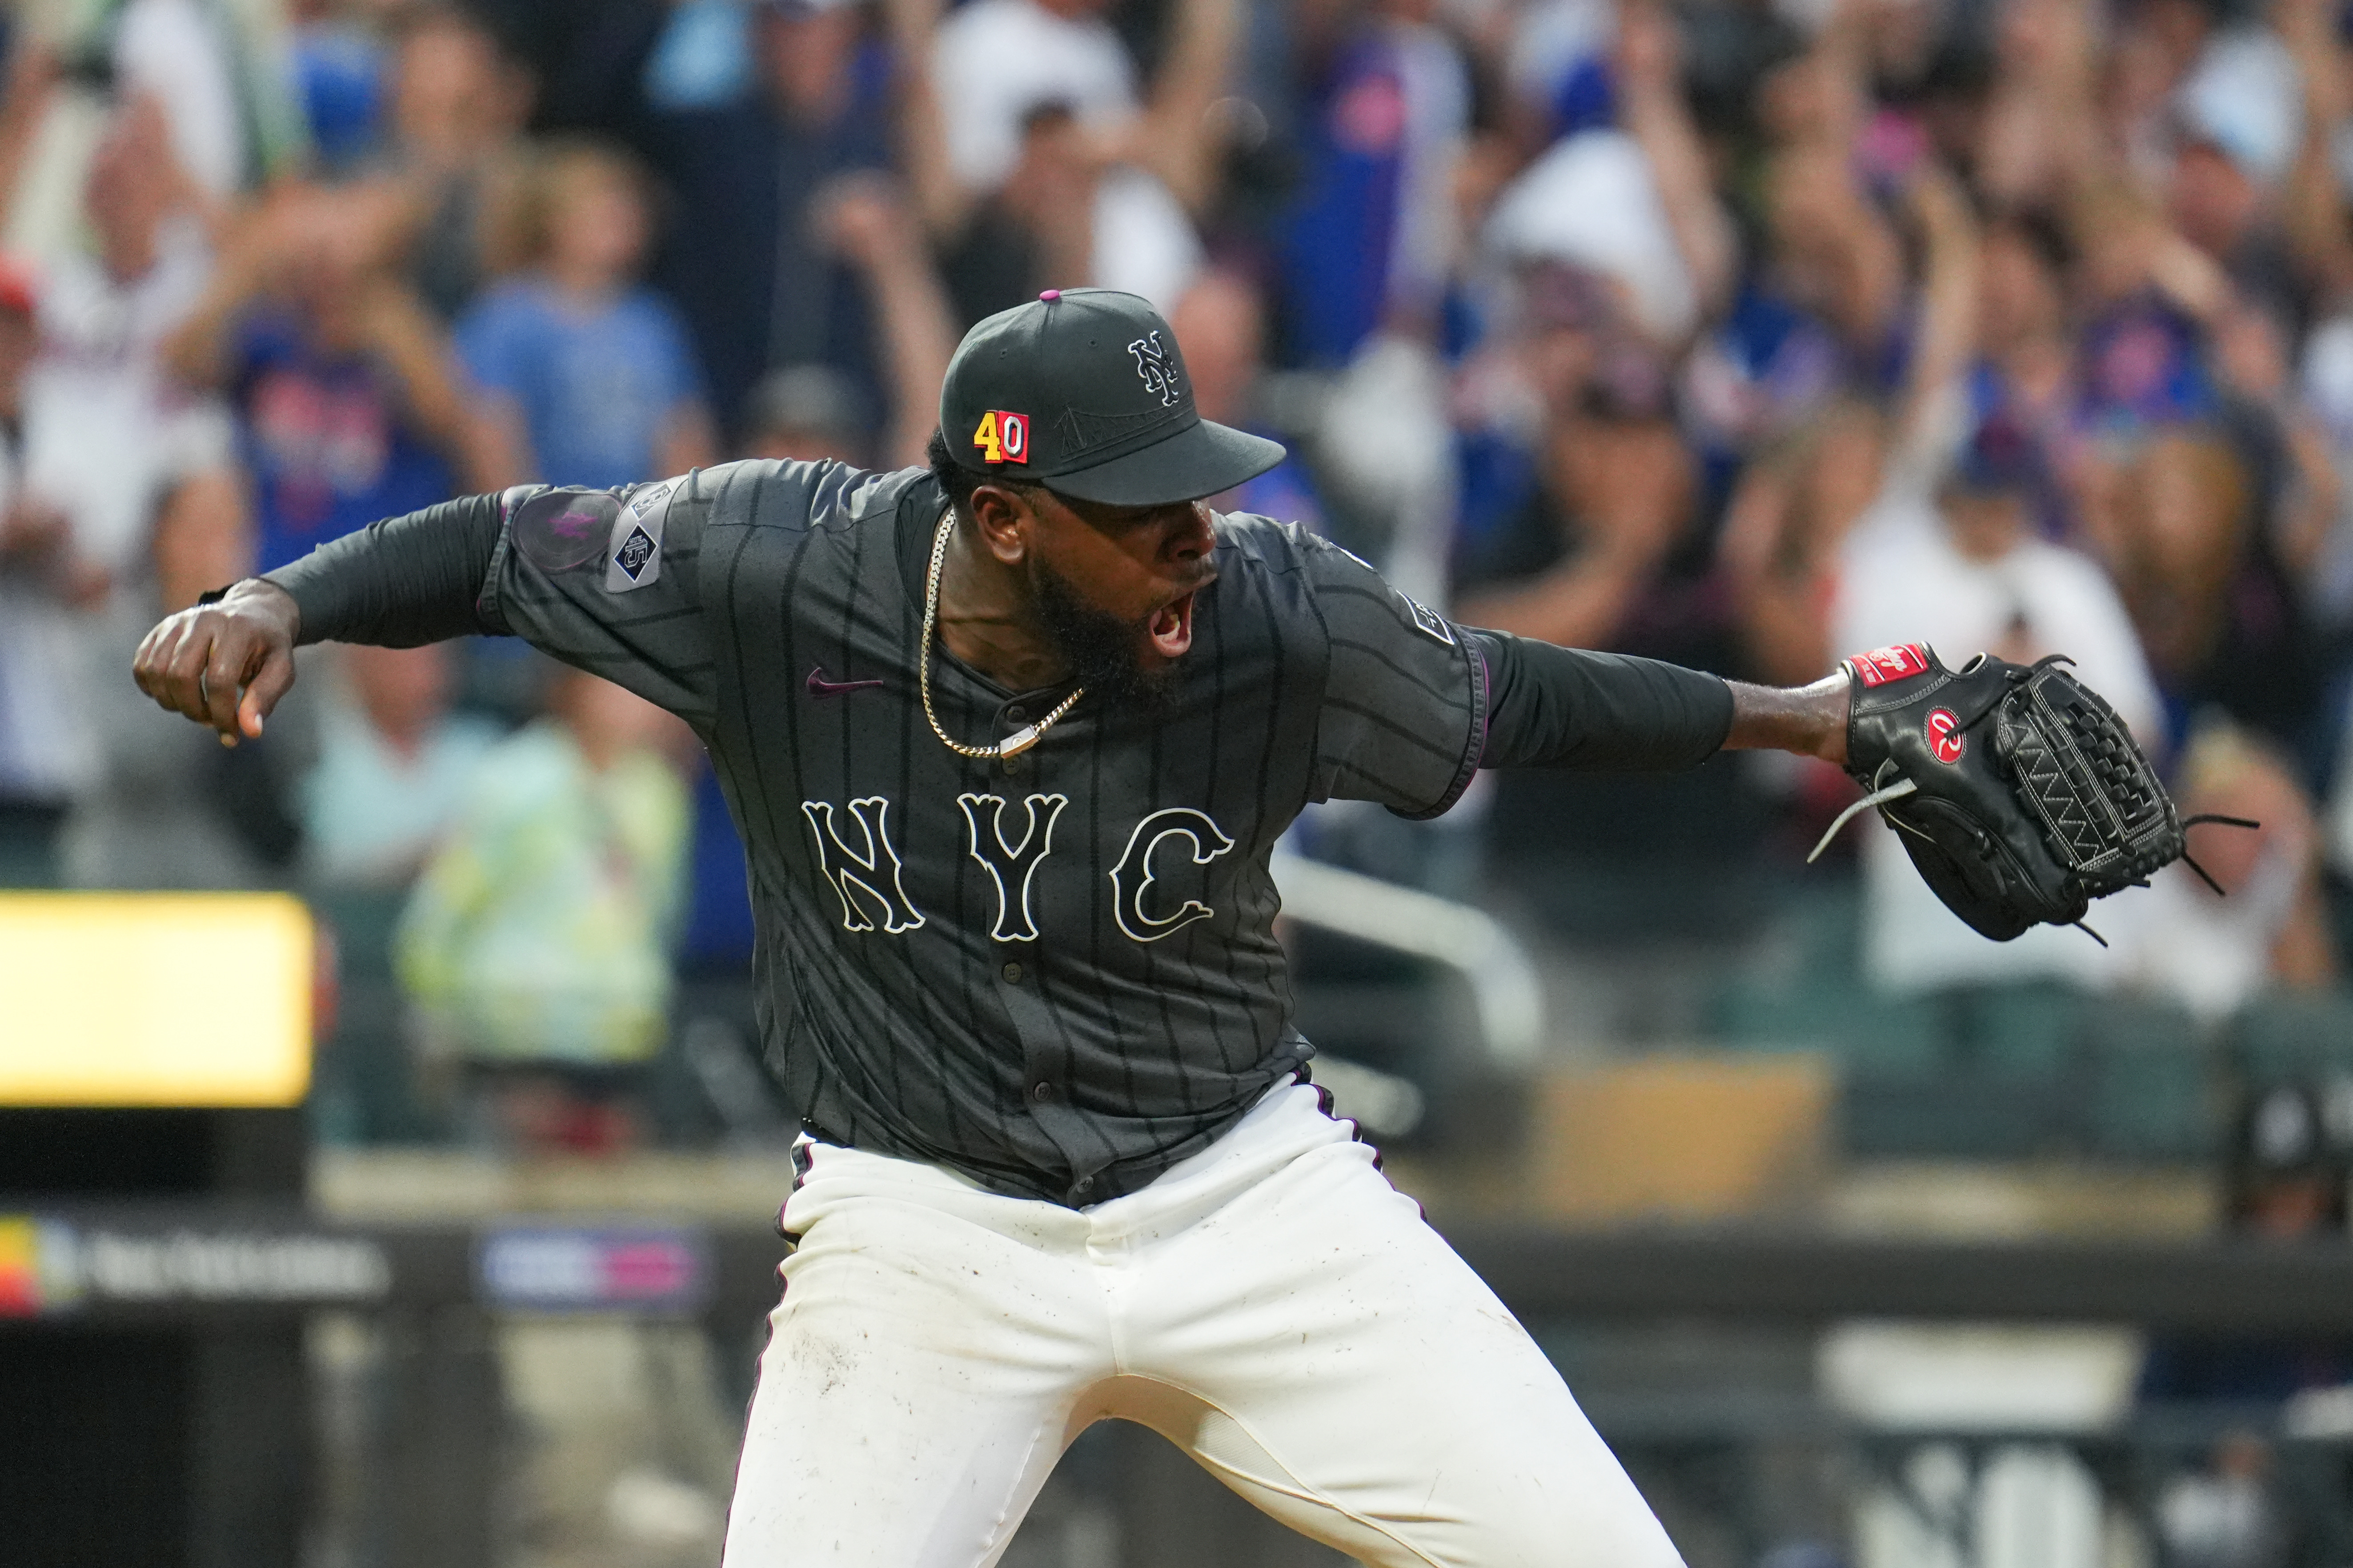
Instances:
[[[661,425],[701,395],[685,327],[652,289],[581,310],[544,280],[506,282],[459,320],[456,353],[475,386],[520,404],[548,484],[664,477]]]

